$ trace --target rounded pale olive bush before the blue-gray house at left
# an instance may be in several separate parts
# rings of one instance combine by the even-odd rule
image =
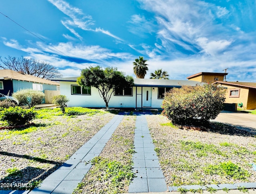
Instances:
[[[20,105],[28,105],[29,108],[41,104],[45,97],[43,92],[32,89],[18,90],[12,96],[20,102]]]

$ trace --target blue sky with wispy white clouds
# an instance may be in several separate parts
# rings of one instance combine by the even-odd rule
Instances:
[[[145,78],[228,68],[227,81],[256,82],[256,0],[0,0],[0,12],[2,59],[35,58],[64,77],[97,65],[135,76],[143,56]]]

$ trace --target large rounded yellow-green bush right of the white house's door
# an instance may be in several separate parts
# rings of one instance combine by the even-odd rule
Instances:
[[[166,93],[163,113],[174,124],[205,125],[223,110],[225,90],[216,84],[182,86]]]

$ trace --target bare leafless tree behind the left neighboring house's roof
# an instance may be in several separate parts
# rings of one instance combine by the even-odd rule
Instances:
[[[62,74],[60,74],[54,66],[32,58],[28,59],[23,56],[21,58],[8,56],[5,60],[2,60],[0,57],[0,62],[0,68],[24,72],[40,78],[50,79],[62,77]]]

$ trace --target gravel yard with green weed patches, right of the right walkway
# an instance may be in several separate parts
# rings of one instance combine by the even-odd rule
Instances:
[[[255,135],[220,123],[201,132],[162,115],[146,118],[168,186],[256,182]]]

